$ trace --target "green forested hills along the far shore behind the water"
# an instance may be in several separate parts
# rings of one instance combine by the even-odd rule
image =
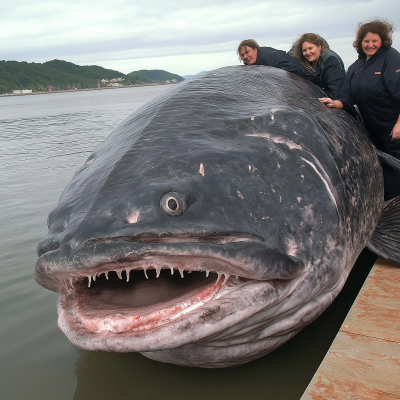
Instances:
[[[41,63],[25,61],[0,61],[0,94],[12,93],[16,89],[31,89],[32,91],[67,90],[95,88],[102,79],[122,78],[123,84],[141,84],[165,82],[183,78],[163,70],[134,71],[128,75],[98,65],[80,66],[67,61],[52,60]]]

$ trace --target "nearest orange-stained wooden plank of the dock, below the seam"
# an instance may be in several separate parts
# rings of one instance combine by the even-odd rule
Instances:
[[[301,399],[400,399],[400,343],[339,332]]]

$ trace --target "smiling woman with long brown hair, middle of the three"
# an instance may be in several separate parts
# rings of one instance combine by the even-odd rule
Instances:
[[[305,33],[295,42],[291,52],[300,60],[307,78],[336,99],[346,73],[342,59],[328,43],[315,33]]]

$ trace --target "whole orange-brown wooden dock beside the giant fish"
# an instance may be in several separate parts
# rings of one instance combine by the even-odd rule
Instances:
[[[400,399],[400,265],[378,258],[301,400]]]

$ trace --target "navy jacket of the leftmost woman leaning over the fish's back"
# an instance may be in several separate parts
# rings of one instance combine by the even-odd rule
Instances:
[[[272,47],[260,47],[258,49],[255,65],[267,65],[269,67],[284,69],[307,79],[305,73],[300,68],[300,61],[297,58]]]

